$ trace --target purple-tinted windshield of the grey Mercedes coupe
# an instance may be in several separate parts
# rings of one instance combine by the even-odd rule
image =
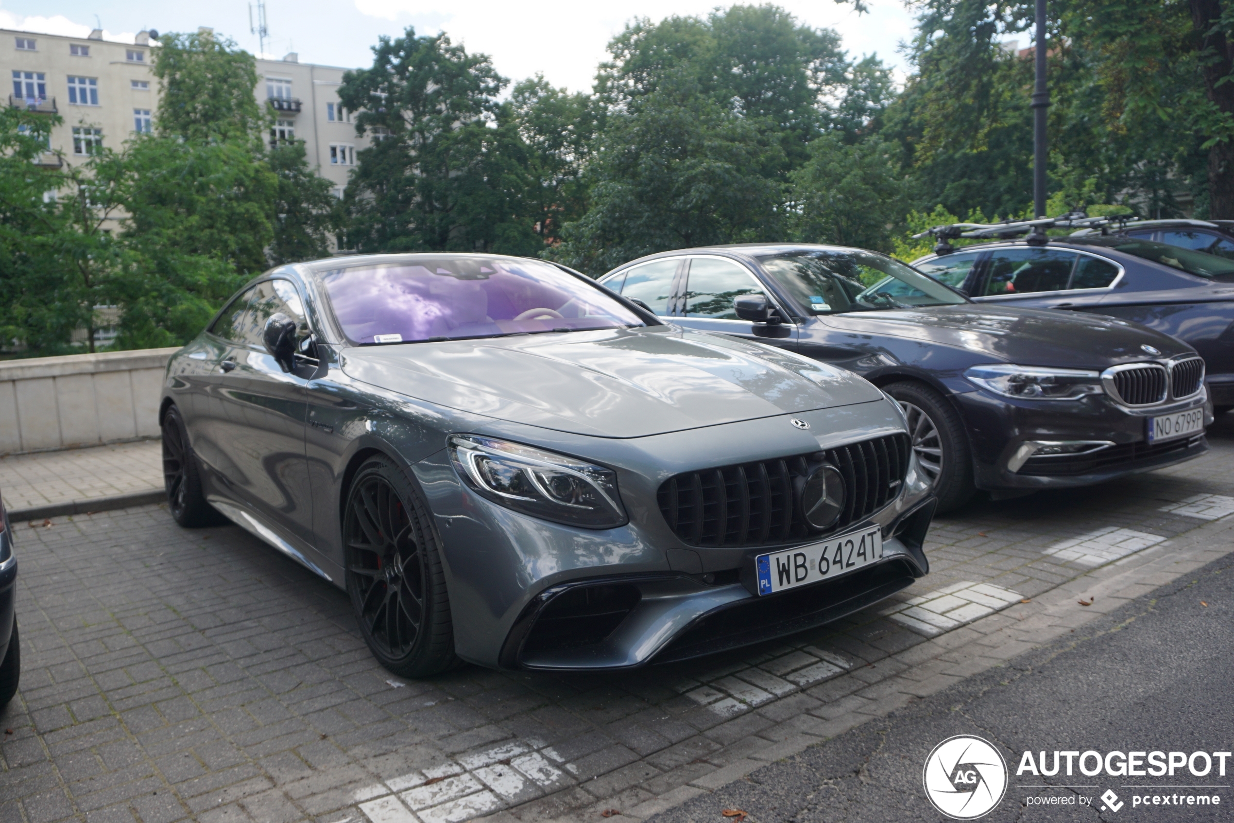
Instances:
[[[334,316],[360,345],[645,326],[548,263],[418,257],[321,275]]]

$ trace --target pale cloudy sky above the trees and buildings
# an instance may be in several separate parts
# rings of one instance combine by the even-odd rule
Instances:
[[[716,5],[714,0],[627,0],[612,6],[565,0],[269,0],[265,57],[297,52],[302,63],[366,67],[373,62],[369,47],[379,36],[396,37],[413,26],[418,35],[444,31],[469,52],[491,56],[497,72],[512,80],[540,73],[555,86],[582,91],[591,88],[596,65],[607,58],[605,46],[628,21],[706,15]],[[803,23],[838,31],[850,57],[877,53],[903,77],[897,48],[912,36],[912,16],[902,0],[868,0],[865,15],[833,0],[781,0],[779,5]],[[0,0],[0,28],[84,37],[99,23],[105,39],[126,42],[147,28],[210,26],[258,52],[247,0],[204,6],[165,0]]]

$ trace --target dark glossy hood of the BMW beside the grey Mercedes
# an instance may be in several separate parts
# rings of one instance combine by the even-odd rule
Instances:
[[[896,311],[850,312],[819,318],[832,328],[892,334],[972,352],[974,363],[996,362],[1075,369],[1188,354],[1186,343],[1139,323],[1058,308],[963,304]]]

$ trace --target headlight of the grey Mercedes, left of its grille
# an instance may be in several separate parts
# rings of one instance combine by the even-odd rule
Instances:
[[[447,443],[459,476],[495,503],[587,528],[626,522],[612,469],[476,434],[452,434]]]

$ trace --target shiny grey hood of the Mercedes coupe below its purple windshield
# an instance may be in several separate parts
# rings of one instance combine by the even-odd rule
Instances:
[[[348,348],[342,369],[439,406],[617,438],[882,397],[849,371],[675,327]]]

